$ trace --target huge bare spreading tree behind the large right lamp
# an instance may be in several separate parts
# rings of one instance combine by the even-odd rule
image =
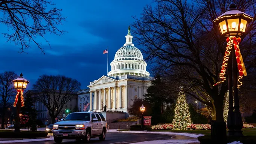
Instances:
[[[153,71],[171,81],[173,91],[183,86],[184,92],[214,108],[219,122],[224,121],[227,81],[213,85],[219,80],[226,39],[220,37],[213,20],[234,1],[239,10],[254,16],[239,44],[247,74],[254,75],[255,0],[194,0],[197,5],[186,0],[155,0],[156,6],[146,6],[133,23],[135,40],[145,47],[146,60],[156,64]]]

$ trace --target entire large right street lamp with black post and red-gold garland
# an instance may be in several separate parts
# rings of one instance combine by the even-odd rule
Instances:
[[[229,113],[227,117],[227,127],[229,129],[228,135],[242,135],[241,129],[243,123],[241,113],[239,111],[238,89],[239,86],[242,85],[239,80],[243,76],[246,76],[247,73],[238,44],[241,42],[240,36],[245,34],[246,26],[252,21],[252,19],[253,17],[251,17],[250,15],[237,10],[235,4],[231,4],[227,12],[223,13],[221,16],[213,20],[213,22],[218,25],[221,36],[227,37],[228,42],[221,67],[221,73],[219,74],[219,78],[221,79],[221,81],[215,84],[217,85],[226,80],[226,77],[224,75],[227,70],[229,84]],[[239,76],[237,74],[238,72]],[[234,108],[233,94],[235,102]]]

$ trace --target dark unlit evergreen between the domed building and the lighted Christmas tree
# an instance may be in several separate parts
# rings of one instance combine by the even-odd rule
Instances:
[[[151,86],[148,87],[147,93],[144,96],[145,101],[151,105],[152,123],[163,122],[166,120],[166,117],[163,116],[165,113],[165,106],[167,104],[172,104],[174,101],[166,81],[162,80],[159,74],[157,74],[155,79],[151,81]]]

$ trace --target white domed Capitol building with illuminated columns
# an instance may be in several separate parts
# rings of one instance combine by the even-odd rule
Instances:
[[[134,98],[143,99],[152,77],[146,71],[147,63],[143,60],[141,51],[133,44],[130,26],[125,39],[125,44],[117,50],[110,63],[111,71],[108,75],[90,82],[89,89],[78,93],[78,106],[80,105],[81,111],[85,99],[89,100],[89,111],[100,112],[106,105],[108,112],[123,113],[133,104]]]

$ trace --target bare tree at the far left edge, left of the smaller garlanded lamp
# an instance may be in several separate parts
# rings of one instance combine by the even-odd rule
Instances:
[[[7,108],[13,105],[16,91],[14,89],[14,84],[12,80],[18,78],[18,75],[15,72],[3,72],[0,74],[0,105],[3,107],[2,111],[2,127],[5,129],[5,114]]]

